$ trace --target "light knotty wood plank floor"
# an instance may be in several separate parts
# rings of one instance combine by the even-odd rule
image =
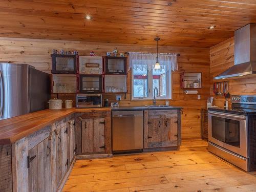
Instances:
[[[210,154],[203,140],[183,140],[180,151],[77,160],[62,191],[256,191],[256,172]]]

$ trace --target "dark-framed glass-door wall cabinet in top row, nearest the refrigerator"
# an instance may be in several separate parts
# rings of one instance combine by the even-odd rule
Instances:
[[[77,55],[52,54],[53,74],[77,74]]]

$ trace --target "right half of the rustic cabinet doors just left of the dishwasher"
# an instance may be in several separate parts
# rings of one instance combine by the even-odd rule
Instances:
[[[93,119],[93,151],[104,153],[105,151],[105,119]]]

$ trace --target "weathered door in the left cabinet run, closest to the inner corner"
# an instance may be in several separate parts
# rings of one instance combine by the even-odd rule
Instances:
[[[56,138],[57,186],[68,169],[67,126],[60,128]]]

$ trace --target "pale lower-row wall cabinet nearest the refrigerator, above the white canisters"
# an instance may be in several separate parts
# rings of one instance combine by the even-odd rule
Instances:
[[[77,76],[76,75],[52,75],[53,93],[76,93]]]

